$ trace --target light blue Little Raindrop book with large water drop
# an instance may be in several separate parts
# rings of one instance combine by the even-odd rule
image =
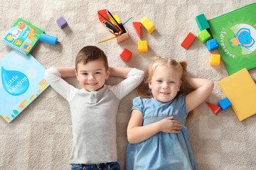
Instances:
[[[8,123],[49,86],[45,70],[32,55],[16,50],[0,61],[0,114]]]

